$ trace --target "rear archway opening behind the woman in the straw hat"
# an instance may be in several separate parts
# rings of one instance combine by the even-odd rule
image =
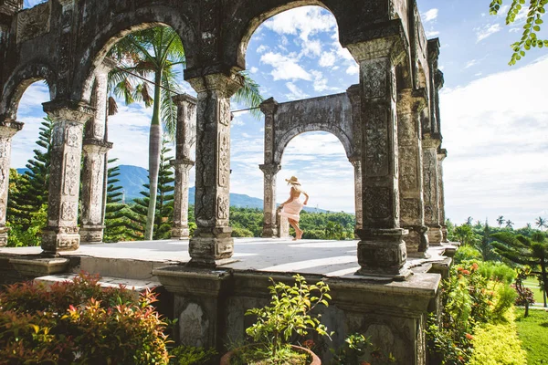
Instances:
[[[289,198],[286,179],[295,176],[310,196],[300,214],[305,239],[353,239],[354,170],[341,141],[323,131],[305,132],[286,146],[277,176],[277,201]],[[300,198],[303,199],[303,198]],[[291,235],[293,230],[291,229]]]

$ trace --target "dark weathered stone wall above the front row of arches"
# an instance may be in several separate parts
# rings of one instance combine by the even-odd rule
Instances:
[[[301,5],[330,10],[342,46],[385,36],[393,19],[410,34],[406,0],[49,0],[15,16],[12,3],[0,1],[6,35],[0,113],[10,118],[25,88],[18,89],[29,79],[46,78],[52,99],[89,101],[94,69],[109,47],[145,26],[164,24],[178,32],[186,53],[185,78],[245,68],[248,40],[257,27]]]

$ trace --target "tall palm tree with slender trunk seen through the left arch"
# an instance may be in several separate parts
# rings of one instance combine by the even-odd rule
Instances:
[[[174,93],[179,92],[177,78],[185,65],[184,47],[174,29],[169,26],[154,26],[122,38],[111,48],[109,57],[120,64],[119,68],[112,69],[109,75],[112,92],[124,99],[126,104],[142,101],[146,107],[153,107],[149,137],[150,200],[144,234],[145,240],[152,240],[162,148],[162,123],[167,135],[173,139],[177,110],[172,97]],[[179,67],[180,70],[177,70]],[[250,80],[247,74],[243,76],[244,87],[238,90],[235,99],[243,101],[248,106],[257,107],[262,102],[258,85]],[[150,88],[153,88],[153,93]],[[115,106],[111,105],[112,101],[113,99],[109,99],[109,109],[115,110]]]

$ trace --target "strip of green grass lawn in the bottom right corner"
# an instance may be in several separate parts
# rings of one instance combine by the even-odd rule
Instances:
[[[523,313],[522,308],[516,308],[518,335],[527,351],[527,364],[548,364],[548,312],[530,309],[528,318],[523,318]]]

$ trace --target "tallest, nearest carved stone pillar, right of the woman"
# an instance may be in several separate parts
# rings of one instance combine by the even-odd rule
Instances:
[[[400,36],[348,48],[360,65],[363,228],[358,275],[405,279],[407,235],[400,228],[395,66],[405,55]]]

